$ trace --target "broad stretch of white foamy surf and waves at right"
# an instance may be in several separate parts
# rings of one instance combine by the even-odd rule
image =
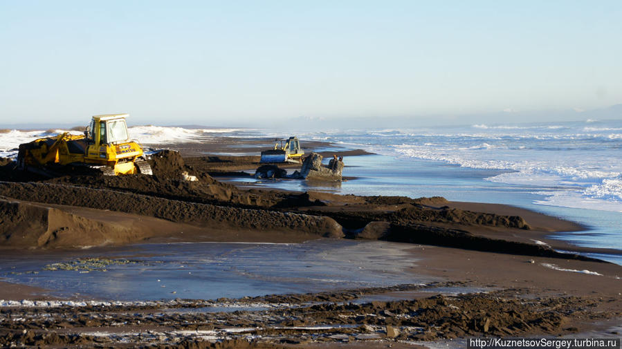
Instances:
[[[477,126],[483,129],[486,125]],[[611,143],[622,139],[622,134],[576,133],[578,127],[567,129],[558,134],[542,130],[513,135],[491,131],[489,136],[479,132],[426,134],[414,137],[413,142],[388,145],[380,152],[394,151],[408,158],[472,169],[506,170],[486,179],[549,189],[538,190],[538,194],[546,195],[536,201],[540,205],[622,211],[622,157],[616,150],[621,145]]]

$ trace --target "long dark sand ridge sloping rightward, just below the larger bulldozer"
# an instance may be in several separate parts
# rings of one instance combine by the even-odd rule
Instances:
[[[219,207],[89,187],[51,183],[0,183],[0,196],[56,205],[107,209],[221,229],[343,236],[341,226],[328,217]]]

